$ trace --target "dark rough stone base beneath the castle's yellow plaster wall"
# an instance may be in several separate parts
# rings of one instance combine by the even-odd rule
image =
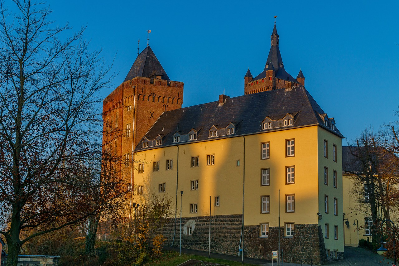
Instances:
[[[211,216],[211,252],[238,255],[241,236],[241,214]],[[179,245],[180,218],[166,226],[166,245]],[[188,227],[192,235],[188,235]],[[280,248],[284,262],[326,264],[326,247],[321,227],[317,224],[295,224],[293,237],[284,237],[284,226],[280,227]],[[182,248],[208,251],[209,216],[182,218]],[[269,237],[259,236],[259,225],[244,226],[244,256],[271,260],[272,250],[278,249],[278,227],[269,228]],[[343,254],[338,252],[338,258]]]

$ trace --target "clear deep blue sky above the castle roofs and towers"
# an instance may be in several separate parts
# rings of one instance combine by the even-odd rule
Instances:
[[[248,69],[266,63],[274,16],[285,69],[348,139],[394,121],[398,107],[398,1],[49,1],[57,24],[87,26],[119,73],[115,87],[150,46],[172,80],[183,81],[183,106],[243,95]],[[103,97],[112,90],[103,91]],[[343,141],[346,145],[346,140]]]

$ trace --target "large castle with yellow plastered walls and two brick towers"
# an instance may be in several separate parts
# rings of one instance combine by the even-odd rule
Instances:
[[[285,71],[276,26],[264,71],[248,70],[244,86],[242,96],[181,108],[183,83],[169,81],[149,47],[138,56],[104,100],[105,144],[122,160],[134,155],[122,169],[132,171],[134,201],[171,200],[169,245],[181,204],[184,248],[208,250],[210,222],[211,252],[271,259],[280,232],[284,262],[342,259],[343,135],[302,71]]]

